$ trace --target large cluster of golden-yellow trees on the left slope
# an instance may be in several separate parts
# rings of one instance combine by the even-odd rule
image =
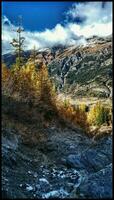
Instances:
[[[11,84],[6,87],[6,83],[9,84],[8,77]],[[54,87],[45,65],[41,65],[39,69],[36,69],[32,64],[27,64],[21,68],[13,65],[11,69],[3,65],[2,82],[4,83],[4,91],[10,87],[9,95],[16,95],[16,98],[19,97],[26,102],[38,103],[40,101],[48,105],[52,104],[52,101],[54,102]]]

